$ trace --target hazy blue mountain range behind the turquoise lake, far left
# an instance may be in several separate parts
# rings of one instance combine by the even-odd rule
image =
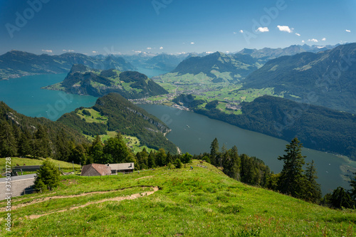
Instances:
[[[68,73],[73,64],[83,64],[90,68],[107,70],[135,70],[123,58],[107,56],[92,58],[81,53],[63,53],[59,56],[36,55],[23,51],[10,51],[0,56],[0,80],[19,78],[25,75]]]

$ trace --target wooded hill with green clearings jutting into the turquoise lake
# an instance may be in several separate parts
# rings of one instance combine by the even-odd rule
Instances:
[[[145,98],[167,94],[160,85],[138,72],[119,70],[96,70],[85,65],[73,65],[61,83],[43,89],[63,90],[78,95],[100,97],[109,93],[119,93],[127,99]]]

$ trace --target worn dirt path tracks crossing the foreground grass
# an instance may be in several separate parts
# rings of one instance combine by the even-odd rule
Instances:
[[[118,196],[118,197],[115,197],[113,199],[103,199],[104,201],[121,201],[122,200],[125,200],[125,199],[137,199],[137,197],[141,197],[141,196],[149,196],[151,194],[154,194],[156,191],[158,191],[158,187],[155,186],[155,187],[148,187],[147,188],[152,188],[153,191],[145,191],[141,194],[132,194],[131,196]],[[130,188],[127,188],[127,189],[130,189]],[[113,190],[113,191],[119,191],[119,190]],[[19,204],[17,206],[11,206],[11,210],[15,210],[15,209],[19,209],[23,206],[28,206],[28,205],[32,205],[32,204],[38,204],[38,203],[41,203],[43,201],[48,201],[48,200],[51,200],[51,199],[68,199],[68,198],[74,198],[74,197],[78,197],[78,196],[88,196],[88,195],[91,195],[91,194],[106,194],[106,193],[109,193],[109,192],[113,192],[113,191],[93,191],[91,193],[85,193],[85,194],[78,194],[78,195],[70,195],[70,196],[48,196],[44,199],[35,199],[33,201],[30,201],[28,203],[25,203],[25,204]],[[137,195],[135,198],[131,198],[132,196],[135,196]],[[83,206],[75,206],[75,207],[72,207],[70,208],[69,210],[73,210],[73,209],[77,209],[79,207],[84,207],[84,206],[88,206],[90,204],[97,204],[97,203],[100,203],[100,202],[103,202],[103,200],[100,200],[100,201],[96,201],[96,202],[88,202],[87,204],[84,204]],[[1,208],[0,211],[6,211],[6,207],[4,208]],[[67,209],[66,210],[62,210],[62,211],[54,211],[54,212],[63,212],[63,211],[68,211]],[[51,212],[49,214],[52,214],[54,212]],[[43,215],[39,215],[38,217],[40,216],[46,216],[48,214],[43,214]],[[33,215],[33,216],[36,216],[36,215]],[[31,216],[30,216],[31,218]]]

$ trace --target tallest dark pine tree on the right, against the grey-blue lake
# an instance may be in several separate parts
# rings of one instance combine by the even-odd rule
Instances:
[[[279,160],[284,161],[281,176],[278,179],[278,191],[295,198],[303,197],[304,192],[303,165],[305,164],[305,157],[301,154],[302,147],[298,138],[295,137],[290,144],[286,145],[285,152],[287,154],[278,157]]]

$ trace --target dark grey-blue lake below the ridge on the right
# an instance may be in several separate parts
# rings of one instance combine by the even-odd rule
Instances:
[[[278,156],[283,156],[288,142],[262,135],[258,132],[243,130],[229,125],[226,122],[211,120],[209,117],[194,112],[178,110],[164,105],[140,105],[143,109],[165,122],[172,132],[167,138],[182,150],[190,154],[210,152],[210,144],[216,137],[220,147],[225,144],[226,149],[234,145],[239,149],[239,154],[248,154],[251,157],[262,159],[275,173],[281,172],[283,162]],[[334,154],[318,152],[313,149],[303,148],[303,155],[307,156],[305,163],[313,159],[318,171],[317,180],[322,184],[323,194],[337,186],[350,189],[349,184],[341,177],[340,167],[350,165],[356,167],[355,162],[347,162]]]

